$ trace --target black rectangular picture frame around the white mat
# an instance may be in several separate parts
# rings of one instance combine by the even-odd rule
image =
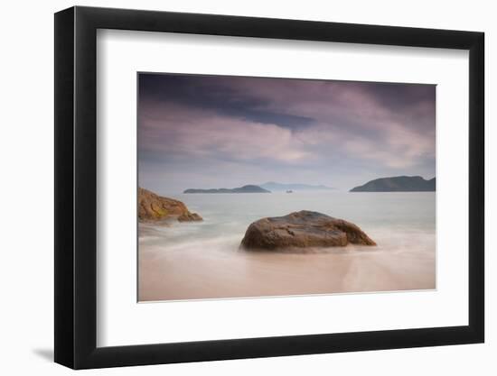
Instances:
[[[97,347],[98,29],[469,50],[468,326]],[[55,362],[86,369],[482,343],[483,49],[483,32],[80,6],[55,14]]]

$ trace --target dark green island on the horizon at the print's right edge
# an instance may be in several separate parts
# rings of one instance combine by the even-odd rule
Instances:
[[[397,176],[368,181],[351,189],[351,192],[430,192],[436,190],[436,179],[426,180],[420,176]]]

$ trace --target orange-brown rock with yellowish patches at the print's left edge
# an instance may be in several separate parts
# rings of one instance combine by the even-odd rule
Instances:
[[[138,188],[138,219],[142,222],[176,219],[180,222],[202,221],[202,216],[191,213],[183,202],[155,195]]]

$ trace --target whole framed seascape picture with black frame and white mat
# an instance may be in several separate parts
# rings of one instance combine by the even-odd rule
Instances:
[[[55,14],[55,362],[482,343],[483,44]]]

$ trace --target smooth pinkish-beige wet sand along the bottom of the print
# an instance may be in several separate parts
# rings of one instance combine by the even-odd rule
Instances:
[[[139,256],[140,301],[436,288],[435,251],[348,246],[303,254],[142,245]]]

